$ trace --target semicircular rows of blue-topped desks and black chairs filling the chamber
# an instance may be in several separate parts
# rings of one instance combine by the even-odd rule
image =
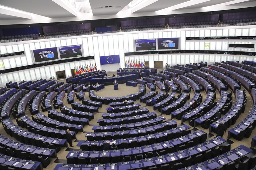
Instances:
[[[241,141],[253,132],[256,68],[229,61],[209,66],[176,65],[150,75],[148,69],[124,68],[118,72],[122,81],[131,73],[143,78],[119,85],[121,97],[99,95],[106,89],[80,75],[67,83],[0,88],[6,133],[0,134],[0,169],[251,169],[255,151],[246,144],[233,147],[232,138]],[[133,92],[124,96],[122,88]],[[220,124],[228,130],[224,137],[218,136]],[[67,129],[75,148],[67,145]],[[106,148],[107,142],[115,148]]]

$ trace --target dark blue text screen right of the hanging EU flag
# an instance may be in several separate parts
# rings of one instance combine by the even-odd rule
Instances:
[[[135,51],[155,50],[155,49],[156,49],[155,39],[135,40]]]

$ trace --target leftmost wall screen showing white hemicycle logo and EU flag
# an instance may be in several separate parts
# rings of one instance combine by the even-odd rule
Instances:
[[[33,50],[33,55],[36,63],[59,59],[57,47]]]

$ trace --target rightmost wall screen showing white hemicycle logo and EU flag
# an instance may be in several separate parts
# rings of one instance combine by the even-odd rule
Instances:
[[[158,38],[157,48],[158,50],[179,49],[179,38]]]

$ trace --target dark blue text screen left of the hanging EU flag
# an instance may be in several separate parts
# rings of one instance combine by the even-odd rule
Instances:
[[[82,56],[81,45],[69,45],[69,46],[59,47],[59,51],[60,51],[61,58]]]

